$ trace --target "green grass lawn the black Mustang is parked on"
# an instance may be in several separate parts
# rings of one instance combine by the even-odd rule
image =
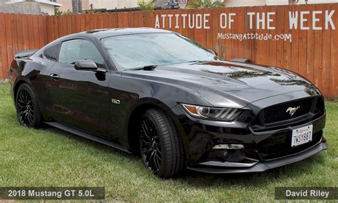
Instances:
[[[0,83],[0,187],[106,187],[120,201],[231,201],[274,199],[275,187],[338,186],[338,102],[327,101],[329,150],[267,172],[160,180],[140,158],[56,128],[24,128],[9,84]]]

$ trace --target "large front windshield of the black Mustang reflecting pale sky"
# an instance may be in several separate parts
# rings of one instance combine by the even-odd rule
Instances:
[[[120,35],[104,38],[102,43],[113,61],[125,70],[216,59],[198,43],[175,33]]]

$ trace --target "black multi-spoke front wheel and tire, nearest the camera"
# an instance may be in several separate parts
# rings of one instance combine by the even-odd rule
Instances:
[[[140,155],[145,167],[158,177],[180,175],[185,155],[172,119],[163,111],[148,109],[140,123]]]

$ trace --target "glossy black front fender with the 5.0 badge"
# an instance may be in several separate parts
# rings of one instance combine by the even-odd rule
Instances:
[[[118,137],[119,142],[125,146],[128,146],[128,138],[124,136],[128,134],[127,124],[129,124],[133,112],[140,106],[158,107],[174,119],[175,114],[173,114],[171,108],[176,106],[178,101],[184,101],[186,104],[210,106],[197,94],[185,91],[175,84],[140,77],[123,77],[120,72],[111,73],[109,87],[110,112],[113,123],[111,131],[113,136]]]

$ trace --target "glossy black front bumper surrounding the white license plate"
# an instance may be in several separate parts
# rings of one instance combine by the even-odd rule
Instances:
[[[327,149],[323,136],[325,113],[302,124],[257,132],[242,122],[200,120],[180,112],[179,107],[173,110],[179,115],[177,126],[183,137],[187,168],[190,170],[208,173],[262,172],[304,160]],[[313,125],[312,141],[291,147],[292,131],[308,125]],[[244,149],[235,153],[230,150],[232,158],[222,159],[219,156],[222,153],[212,148],[218,144],[240,144]]]

